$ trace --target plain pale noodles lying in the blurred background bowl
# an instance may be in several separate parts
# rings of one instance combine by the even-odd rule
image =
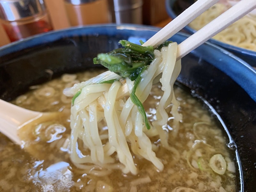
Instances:
[[[228,6],[216,3],[193,20],[189,26],[199,30],[227,9]],[[226,44],[256,51],[256,16],[249,13],[212,38]]]

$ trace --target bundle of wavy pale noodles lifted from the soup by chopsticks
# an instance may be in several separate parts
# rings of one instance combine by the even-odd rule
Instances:
[[[181,69],[180,60],[176,62],[176,54],[177,43],[170,43],[160,51],[154,50],[155,58],[140,74],[138,85],[130,78],[124,80],[107,71],[64,90],[67,96],[75,95],[71,107],[70,142],[71,160],[77,167],[100,176],[114,169],[137,174],[134,158],[145,158],[162,171],[164,165],[156,157],[150,140],[152,137],[159,138],[164,148],[177,155],[176,150],[169,146],[168,134],[162,128],[168,121],[165,108],[171,103],[176,133],[181,120],[177,111],[179,102],[173,92],[173,84]],[[116,80],[106,83],[113,79]],[[156,111],[156,120],[147,129],[140,108],[133,103],[130,94],[137,86],[135,94],[143,103],[156,81],[162,85],[163,96]]]

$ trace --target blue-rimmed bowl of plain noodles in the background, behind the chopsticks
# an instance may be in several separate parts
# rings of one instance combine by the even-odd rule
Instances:
[[[165,6],[168,15],[176,18],[181,12],[188,8],[195,1],[190,0],[166,0]],[[184,31],[193,34],[211,20],[225,12],[230,6],[235,4],[235,0],[221,0],[213,5],[209,10],[198,16],[194,21],[184,27]],[[211,43],[219,45],[229,52],[256,67],[256,14],[253,10],[236,23],[221,31],[209,40]]]

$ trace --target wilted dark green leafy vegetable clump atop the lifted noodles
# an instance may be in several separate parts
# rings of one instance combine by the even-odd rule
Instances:
[[[108,53],[98,54],[97,57],[93,59],[93,63],[101,64],[108,68],[109,71],[112,71],[123,78],[128,77],[132,81],[135,81],[130,97],[132,102],[138,107],[147,129],[150,129],[146,111],[135,92],[141,81],[141,73],[154,60],[154,50],[160,50],[163,46],[168,46],[171,42],[164,42],[164,44],[161,44],[156,48],[153,46],[141,46],[126,40],[121,40],[119,43],[123,46],[122,48],[115,49]],[[143,42],[140,41],[140,44],[143,44]]]

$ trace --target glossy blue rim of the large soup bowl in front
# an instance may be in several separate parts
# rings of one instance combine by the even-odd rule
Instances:
[[[106,30],[107,28],[109,30]],[[0,47],[0,58],[4,55],[11,54],[25,48],[31,48],[36,45],[47,44],[63,37],[68,37],[72,35],[83,35],[85,31],[87,32],[90,31],[90,33],[97,35],[99,34],[99,32],[95,29],[98,29],[99,31],[105,29],[106,33],[111,33],[111,30],[110,30],[111,28],[152,31],[152,32],[157,32],[161,29],[154,26],[139,25],[139,24],[98,24],[98,25],[71,27],[71,28],[46,32],[46,33],[35,35],[35,36],[30,36],[23,40],[4,45]],[[189,34],[183,33],[183,32],[178,32],[177,34],[185,37],[190,36]],[[232,65],[233,68],[231,68],[230,66],[227,67],[227,66],[220,66],[220,65],[217,66],[217,68],[219,68],[222,72],[225,72],[228,76],[230,76],[256,102],[256,94],[255,94],[256,81],[254,80],[256,79],[256,70],[252,68],[252,66],[249,65],[244,60],[240,59],[233,53],[225,50],[224,48],[216,44],[213,44],[207,41],[201,46],[214,47],[215,49],[218,49],[220,52],[222,52],[223,55],[225,56],[228,55],[228,57],[231,57],[234,60],[238,61],[239,65],[237,65],[237,63],[230,63],[230,66]],[[241,71],[243,71],[243,73],[241,73]]]

